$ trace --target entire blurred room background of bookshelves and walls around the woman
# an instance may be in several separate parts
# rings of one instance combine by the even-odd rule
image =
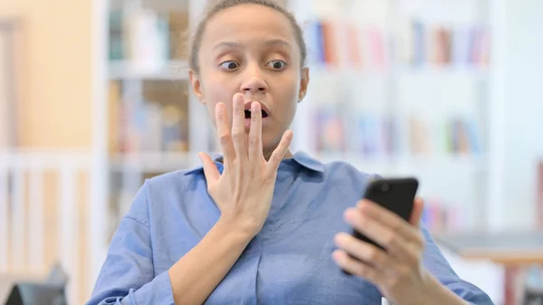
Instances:
[[[0,302],[59,263],[82,304],[143,180],[218,150],[187,81],[209,2],[0,0]],[[309,48],[293,150],[417,176],[462,277],[537,294],[543,1],[280,2]]]

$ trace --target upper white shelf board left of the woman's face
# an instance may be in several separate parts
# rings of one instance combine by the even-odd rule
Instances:
[[[170,61],[148,62],[113,61],[110,62],[110,80],[188,80],[188,62]]]

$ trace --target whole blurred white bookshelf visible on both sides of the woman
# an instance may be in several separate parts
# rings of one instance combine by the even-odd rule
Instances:
[[[195,166],[196,152],[217,150],[187,80],[187,33],[205,5],[110,1],[113,227],[145,177]],[[370,174],[417,176],[431,230],[484,229],[489,1],[281,5],[298,17],[309,49],[310,90],[292,126],[293,149]]]

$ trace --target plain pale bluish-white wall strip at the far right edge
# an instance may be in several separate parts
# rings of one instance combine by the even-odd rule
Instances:
[[[508,0],[506,19],[503,223],[534,224],[536,162],[543,160],[543,1]]]

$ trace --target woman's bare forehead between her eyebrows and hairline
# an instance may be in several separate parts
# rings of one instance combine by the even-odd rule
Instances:
[[[295,45],[289,19],[263,5],[237,5],[215,14],[205,26],[202,46],[219,41],[235,40],[258,43],[268,39],[283,39]]]

